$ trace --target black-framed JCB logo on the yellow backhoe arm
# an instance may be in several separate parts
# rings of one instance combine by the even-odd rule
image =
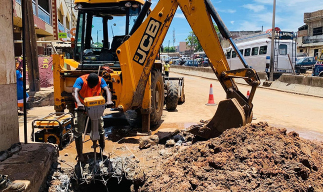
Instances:
[[[149,49],[153,45],[160,28],[161,22],[157,21],[156,19],[150,18],[146,31],[133,57],[133,61],[141,65],[145,63]]]

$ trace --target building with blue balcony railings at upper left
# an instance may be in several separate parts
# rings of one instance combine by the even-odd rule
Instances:
[[[14,40],[22,40],[22,0],[13,0]],[[77,11],[74,0],[32,0],[35,32],[38,41],[70,41],[70,30],[76,28]],[[59,33],[67,38],[59,38]],[[51,55],[51,47],[37,43],[39,55]],[[22,55],[22,44],[15,43],[15,56]]]

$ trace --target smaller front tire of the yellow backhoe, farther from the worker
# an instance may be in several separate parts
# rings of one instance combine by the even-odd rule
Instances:
[[[178,103],[178,84],[173,81],[168,81],[166,87],[166,108],[167,110],[175,110]]]

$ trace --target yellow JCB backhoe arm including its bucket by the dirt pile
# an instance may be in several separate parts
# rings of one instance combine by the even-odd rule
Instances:
[[[195,127],[189,131],[204,138],[212,138],[228,128],[237,128],[250,123],[251,102],[260,80],[256,71],[249,68],[244,61],[210,0],[159,0],[140,27],[121,44],[116,52],[122,76],[127,78],[123,78],[121,102],[118,108],[126,111],[142,104],[155,59],[178,6],[200,41],[211,68],[227,93],[227,99],[220,101],[211,121],[202,128]],[[222,36],[232,43],[245,68],[230,70],[212,18]],[[248,99],[239,91],[234,78],[242,78],[252,86]]]

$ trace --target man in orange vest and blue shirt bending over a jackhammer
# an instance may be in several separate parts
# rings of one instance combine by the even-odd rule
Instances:
[[[83,142],[82,142],[82,133],[84,132],[85,128],[85,120],[87,115],[84,115],[83,111],[85,110],[84,107],[84,98],[90,96],[99,96],[101,95],[101,90],[104,91],[107,102],[107,107],[112,107],[114,103],[111,100],[112,94],[109,90],[107,83],[105,82],[102,77],[99,77],[95,73],[90,73],[88,75],[82,75],[81,77],[77,78],[73,86],[73,97],[75,99],[77,108],[78,116],[78,124],[76,125],[75,131],[75,145],[76,151],[78,153],[79,161],[84,161],[83,156]],[[84,133],[85,134],[85,133]],[[105,136],[104,136],[104,128],[103,128],[103,118],[99,120],[99,134],[100,140],[99,145],[101,148],[101,153],[104,151],[105,147]]]

